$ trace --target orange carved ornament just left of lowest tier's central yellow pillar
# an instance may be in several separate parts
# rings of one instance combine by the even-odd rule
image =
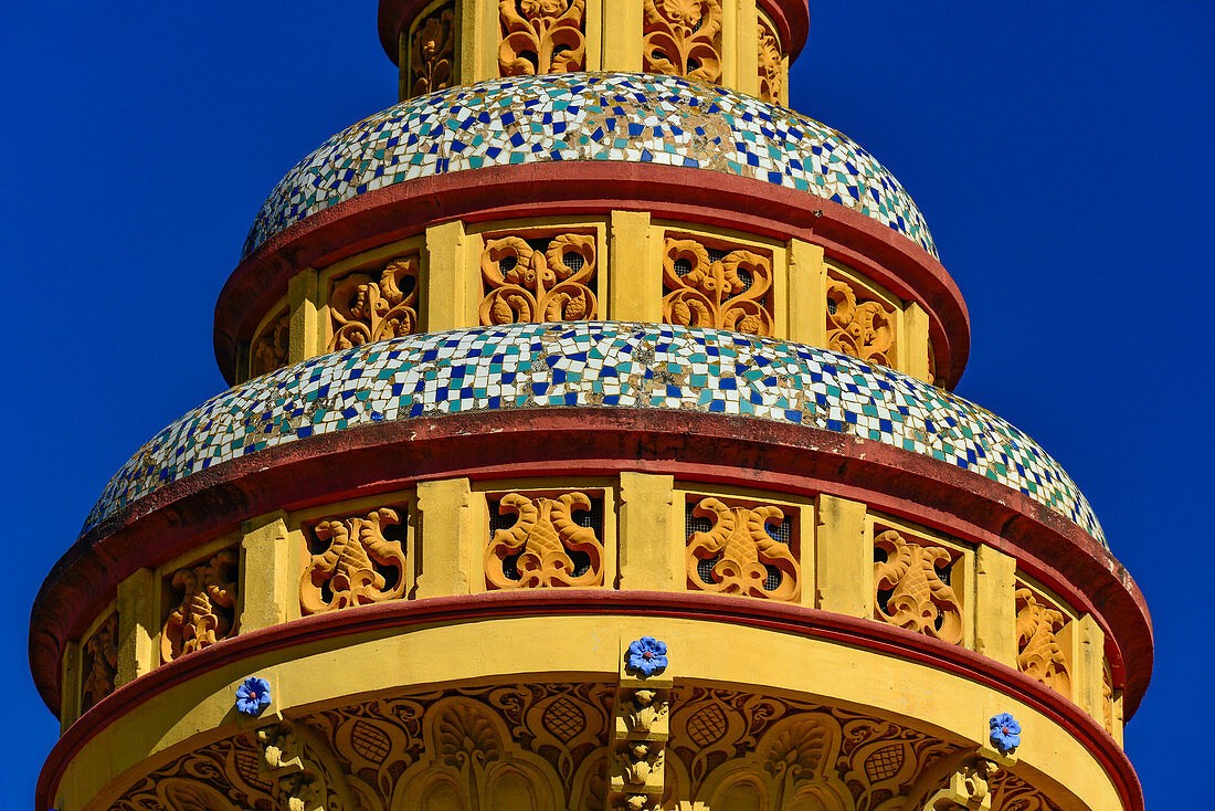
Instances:
[[[566,492],[556,499],[504,495],[498,512],[513,513],[519,519],[513,526],[496,530],[490,539],[485,550],[486,585],[490,588],[601,586],[603,544],[593,529],[573,520],[575,511],[589,509],[590,497],[584,492]],[[581,553],[584,571],[578,571],[571,553]]]

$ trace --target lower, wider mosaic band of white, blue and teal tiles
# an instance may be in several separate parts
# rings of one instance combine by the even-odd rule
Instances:
[[[620,322],[394,338],[255,378],[157,434],[111,479],[84,531],[170,481],[267,447],[391,421],[565,407],[724,413],[882,443],[1023,492],[1104,545],[1046,451],[949,392],[791,342]]]

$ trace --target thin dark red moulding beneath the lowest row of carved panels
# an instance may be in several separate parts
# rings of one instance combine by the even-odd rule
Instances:
[[[1118,743],[1080,708],[1024,674],[972,651],[899,627],[801,606],[745,601],[699,593],[656,591],[537,590],[490,592],[460,597],[396,601],[316,614],[283,625],[225,640],[153,670],[90,709],[60,738],[38,779],[35,802],[46,811],[62,770],[87,742],[115,719],[171,687],[250,655],[318,640],[417,625],[480,619],[553,615],[631,615],[730,623],[854,646],[942,670],[974,681],[1033,706],[1066,730],[1106,770],[1123,806],[1143,811],[1143,792],[1135,768]]]

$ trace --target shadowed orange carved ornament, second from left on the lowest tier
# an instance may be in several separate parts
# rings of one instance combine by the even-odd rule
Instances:
[[[181,599],[160,631],[162,661],[202,651],[232,633],[239,562],[234,551],[226,550],[203,564],[173,573],[169,584],[181,592]]]

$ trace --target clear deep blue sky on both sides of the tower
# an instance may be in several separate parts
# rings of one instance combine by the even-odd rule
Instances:
[[[1070,471],[1147,593],[1155,676],[1126,748],[1148,807],[1198,801],[1215,5],[813,5],[792,106],[923,209],[973,321],[959,392]],[[264,197],[396,78],[374,0],[2,2],[0,75],[0,680],[23,804],[57,734],[26,659],[39,584],[109,474],[224,388],[213,306]]]

